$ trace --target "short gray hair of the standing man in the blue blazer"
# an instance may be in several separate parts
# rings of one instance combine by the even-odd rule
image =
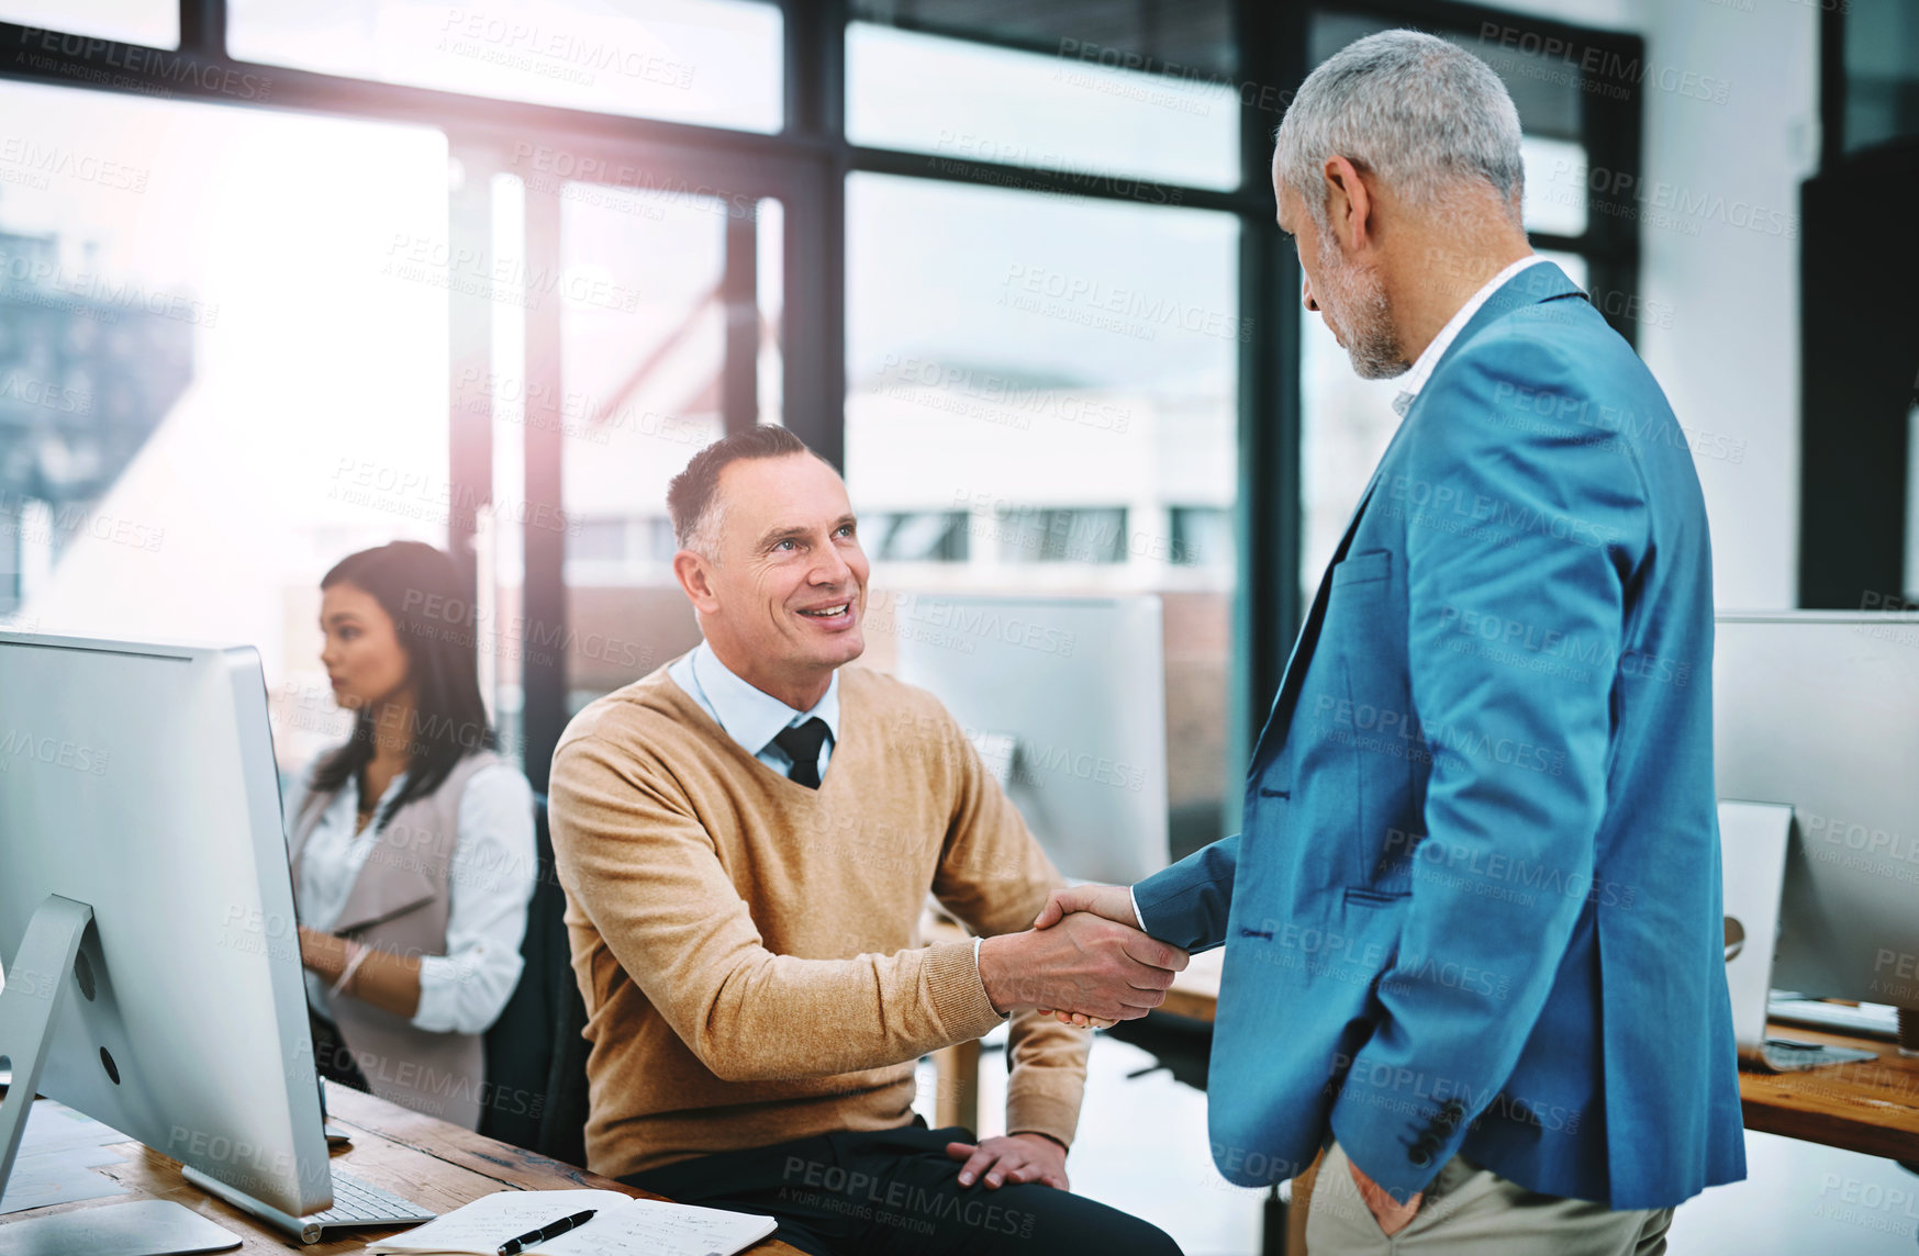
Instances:
[[[1280,178],[1326,228],[1328,157],[1378,174],[1414,205],[1480,180],[1518,221],[1520,111],[1499,75],[1420,31],[1382,31],[1326,58],[1280,123]]]

